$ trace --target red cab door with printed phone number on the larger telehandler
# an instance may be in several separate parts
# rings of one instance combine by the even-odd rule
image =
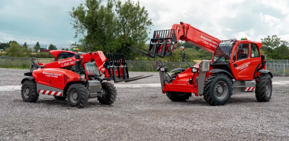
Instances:
[[[249,48],[249,43],[242,43],[239,44],[234,51],[231,69],[236,80],[250,80],[251,78],[251,58]]]

